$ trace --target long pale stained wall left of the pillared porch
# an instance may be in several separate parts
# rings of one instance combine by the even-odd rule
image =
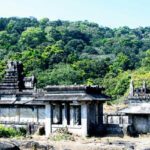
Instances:
[[[44,123],[44,106],[0,106],[0,121]]]

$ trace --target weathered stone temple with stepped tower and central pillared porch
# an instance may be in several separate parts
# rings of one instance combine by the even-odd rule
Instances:
[[[103,133],[103,103],[111,100],[104,88],[53,85],[38,90],[35,77],[24,77],[22,71],[22,63],[7,63],[0,84],[0,124],[29,127],[31,133],[44,127],[46,136],[63,127],[83,137]]]

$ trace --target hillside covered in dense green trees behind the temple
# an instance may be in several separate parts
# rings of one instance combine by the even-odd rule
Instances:
[[[111,29],[88,21],[0,18],[0,80],[7,60],[22,61],[38,87],[99,84],[123,96],[130,79],[150,81],[150,27]]]

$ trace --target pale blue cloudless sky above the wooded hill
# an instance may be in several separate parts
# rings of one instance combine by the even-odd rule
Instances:
[[[0,0],[0,17],[88,20],[101,26],[150,26],[150,0]]]

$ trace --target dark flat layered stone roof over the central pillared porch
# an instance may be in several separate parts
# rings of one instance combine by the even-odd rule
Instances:
[[[97,85],[47,86],[44,96],[36,100],[43,101],[107,101],[110,97],[102,94],[104,88]]]

